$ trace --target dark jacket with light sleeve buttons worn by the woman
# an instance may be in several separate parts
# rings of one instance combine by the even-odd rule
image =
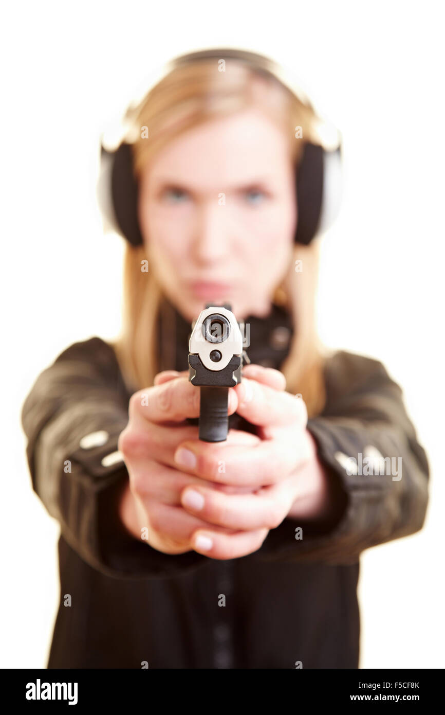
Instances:
[[[249,320],[251,362],[279,368],[289,315],[274,306]],[[174,311],[169,329],[161,368],[185,370],[190,325]],[[285,518],[255,553],[217,561],[156,551],[116,516],[128,480],[116,450],[130,395],[112,347],[99,337],[77,342],[39,375],[21,417],[34,490],[61,526],[49,668],[358,667],[359,555],[419,531],[429,465],[381,363],[339,351],[325,378],[326,406],[308,429],[346,495],[341,518],[327,532]],[[401,478],[350,475],[347,459],[366,450],[401,457]]]

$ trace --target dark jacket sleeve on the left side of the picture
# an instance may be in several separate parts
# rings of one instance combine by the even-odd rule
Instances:
[[[39,375],[21,410],[34,491],[69,546],[106,576],[163,578],[189,571],[206,557],[161,553],[129,535],[119,519],[129,475],[117,443],[128,403],[110,345],[94,337],[62,352]]]

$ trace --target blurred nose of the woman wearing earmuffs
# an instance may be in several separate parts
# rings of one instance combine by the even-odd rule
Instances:
[[[196,221],[193,245],[196,260],[201,263],[214,263],[221,260],[229,246],[228,230],[226,206],[220,205],[218,198],[202,202]]]

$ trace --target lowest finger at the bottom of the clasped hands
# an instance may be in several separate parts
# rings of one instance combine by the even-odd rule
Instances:
[[[234,534],[199,529],[191,538],[191,546],[194,551],[203,553],[209,558],[220,560],[239,558],[258,551],[268,533],[267,529],[240,531]]]

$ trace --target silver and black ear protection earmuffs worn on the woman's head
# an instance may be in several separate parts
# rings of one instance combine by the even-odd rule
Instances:
[[[273,75],[300,102],[314,109],[301,89],[284,76],[276,63],[253,52],[227,48],[192,52],[169,62],[162,74],[187,62],[221,58],[245,61],[254,69]],[[150,90],[151,87],[146,94]],[[320,119],[319,122],[322,127],[319,144],[305,141],[301,159],[295,167],[298,204],[295,242],[303,245],[308,245],[329,228],[341,203],[341,135],[326,120]],[[124,237],[131,245],[141,245],[143,241],[137,217],[138,185],[133,174],[128,136],[124,136],[114,149],[107,148],[102,138],[97,198],[105,227]]]

